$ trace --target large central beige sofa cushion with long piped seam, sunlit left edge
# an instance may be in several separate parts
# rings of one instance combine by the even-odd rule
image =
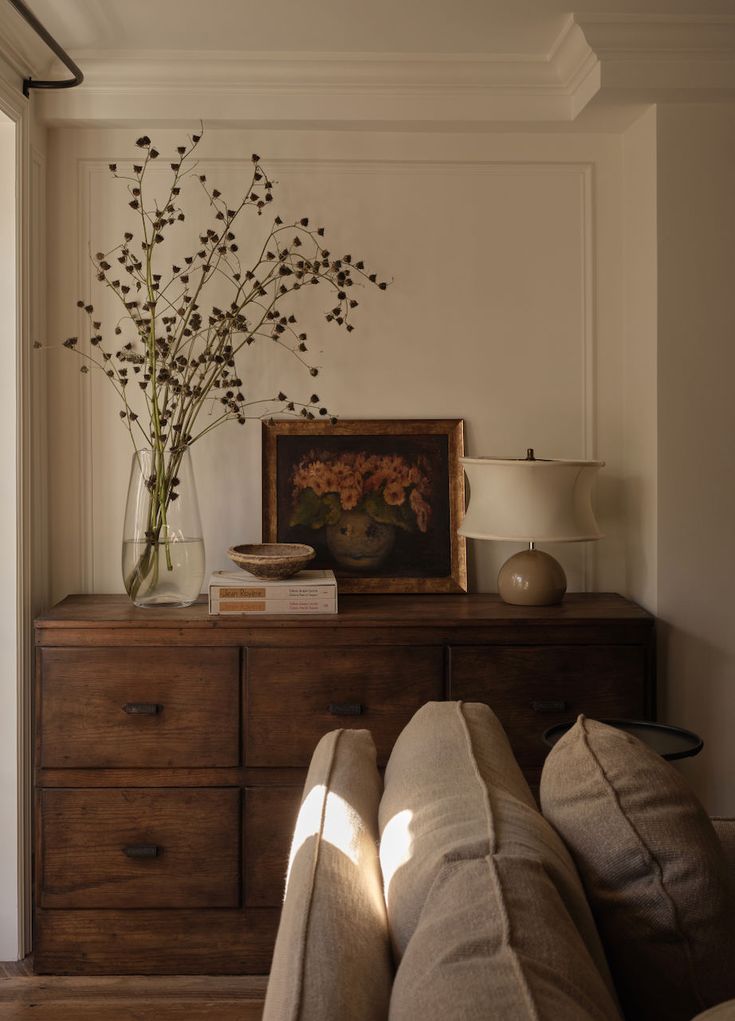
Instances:
[[[416,713],[380,822],[391,1021],[619,1021],[575,867],[487,706]]]

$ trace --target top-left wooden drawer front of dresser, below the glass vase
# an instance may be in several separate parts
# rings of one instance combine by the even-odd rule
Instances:
[[[45,648],[41,766],[238,766],[235,648]]]

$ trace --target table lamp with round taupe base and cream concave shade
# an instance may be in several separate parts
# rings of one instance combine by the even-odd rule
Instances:
[[[498,574],[504,602],[548,606],[567,591],[564,568],[537,542],[600,539],[590,499],[603,460],[544,460],[529,447],[526,457],[460,457],[470,503],[459,535],[470,539],[528,542]]]

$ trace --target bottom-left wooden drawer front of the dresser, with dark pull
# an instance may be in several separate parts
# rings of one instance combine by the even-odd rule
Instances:
[[[42,908],[236,908],[240,791],[58,789],[40,798]]]

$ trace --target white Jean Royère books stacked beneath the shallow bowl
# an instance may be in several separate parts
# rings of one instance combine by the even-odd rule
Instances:
[[[263,581],[249,571],[215,571],[209,613],[336,614],[337,580],[333,571],[299,571],[283,581]]]

